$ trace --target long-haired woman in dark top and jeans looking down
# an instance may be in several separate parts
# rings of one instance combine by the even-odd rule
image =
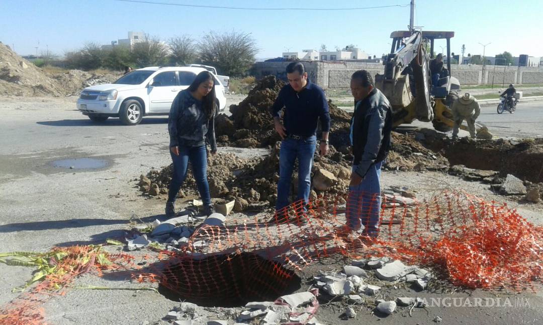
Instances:
[[[217,100],[214,78],[204,71],[196,76],[186,90],[175,97],[168,118],[170,154],[173,160],[173,175],[166,202],[166,216],[175,216],[174,202],[187,175],[188,161],[198,185],[204,212],[213,213],[209,184],[207,183],[206,139],[211,145],[211,154],[217,152],[215,141],[215,114]]]

